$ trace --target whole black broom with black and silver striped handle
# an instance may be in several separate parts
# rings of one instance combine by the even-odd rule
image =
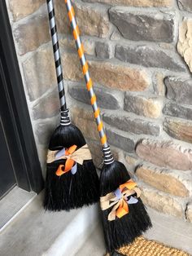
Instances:
[[[98,174],[85,139],[71,124],[63,86],[59,40],[52,0],[47,0],[50,33],[59,88],[60,125],[50,138],[44,207],[46,210],[70,210],[99,200]]]

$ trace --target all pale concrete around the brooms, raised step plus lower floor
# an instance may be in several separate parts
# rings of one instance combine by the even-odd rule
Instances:
[[[0,233],[1,256],[103,256],[97,206],[50,213],[36,198]],[[153,228],[145,236],[192,255],[192,224],[148,209]]]

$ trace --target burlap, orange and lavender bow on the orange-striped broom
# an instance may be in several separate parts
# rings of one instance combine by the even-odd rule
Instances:
[[[132,179],[129,179],[126,183],[121,184],[116,191],[100,197],[102,210],[107,210],[113,206],[111,212],[108,214],[109,221],[115,220],[116,217],[122,218],[125,214],[129,214],[129,205],[137,204],[138,201],[136,197],[132,196],[135,193],[137,194],[137,198],[141,196],[141,190],[137,188],[137,184]]]

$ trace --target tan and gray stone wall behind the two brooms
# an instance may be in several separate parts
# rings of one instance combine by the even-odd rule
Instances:
[[[37,149],[45,166],[59,100],[46,1],[7,0]],[[72,120],[102,161],[64,1],[55,1]],[[114,156],[156,210],[192,221],[192,2],[74,2]]]

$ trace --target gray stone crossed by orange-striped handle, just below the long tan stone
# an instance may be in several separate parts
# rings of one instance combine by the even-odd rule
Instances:
[[[107,108],[107,109],[120,108],[118,99],[116,98],[116,95],[113,95],[111,90],[94,86],[94,91],[95,91],[95,94],[97,95],[98,106],[100,108]],[[85,86],[73,86],[73,87],[69,86],[68,92],[73,99],[77,99],[85,104],[90,104],[89,93],[85,89]]]

